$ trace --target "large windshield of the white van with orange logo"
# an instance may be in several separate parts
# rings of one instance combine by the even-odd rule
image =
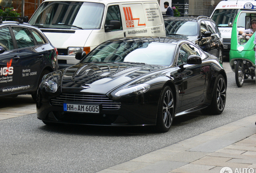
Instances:
[[[43,2],[29,20],[39,28],[100,29],[105,5],[92,2]]]

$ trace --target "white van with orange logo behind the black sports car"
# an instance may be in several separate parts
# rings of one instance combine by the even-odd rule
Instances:
[[[45,0],[29,20],[58,49],[60,68],[76,64],[102,42],[128,36],[165,36],[157,0]]]

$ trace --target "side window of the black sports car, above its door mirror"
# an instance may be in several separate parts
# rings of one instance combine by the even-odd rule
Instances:
[[[200,50],[196,46],[193,46],[192,44],[183,44],[180,47],[180,53],[178,58],[178,65],[182,63],[186,63],[188,60],[188,56],[190,55],[197,55],[200,56]],[[179,59],[182,60],[182,63],[179,62]],[[180,64],[179,64],[180,63]]]

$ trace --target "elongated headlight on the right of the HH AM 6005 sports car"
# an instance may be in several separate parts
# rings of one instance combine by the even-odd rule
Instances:
[[[125,95],[136,95],[136,94],[142,94],[145,93],[150,89],[149,84],[138,84],[138,85],[132,85],[128,87],[124,87],[123,89],[119,90],[115,93],[115,96],[125,96]]]

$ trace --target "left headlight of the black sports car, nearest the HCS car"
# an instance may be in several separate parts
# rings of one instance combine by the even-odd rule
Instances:
[[[46,92],[55,93],[58,89],[61,74],[61,71],[56,71],[45,75],[40,87],[44,88]]]

